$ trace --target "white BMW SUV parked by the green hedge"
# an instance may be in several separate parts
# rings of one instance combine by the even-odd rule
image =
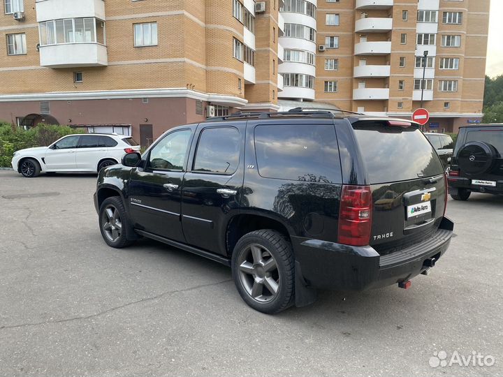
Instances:
[[[49,147],[21,149],[14,153],[13,169],[32,178],[41,172],[99,172],[139,151],[130,136],[109,133],[66,135]]]

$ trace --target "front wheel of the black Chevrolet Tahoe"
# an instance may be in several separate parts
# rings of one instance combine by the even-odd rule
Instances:
[[[103,200],[99,210],[99,227],[101,236],[108,246],[121,249],[133,244],[126,236],[131,226],[121,198],[112,196]]]

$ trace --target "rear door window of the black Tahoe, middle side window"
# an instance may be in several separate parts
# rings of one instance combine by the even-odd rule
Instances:
[[[205,128],[199,138],[194,170],[233,174],[238,169],[241,136],[236,128]]]

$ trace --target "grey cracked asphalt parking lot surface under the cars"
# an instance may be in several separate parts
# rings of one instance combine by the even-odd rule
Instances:
[[[224,266],[106,246],[95,183],[0,171],[1,376],[503,375],[503,197],[449,200],[451,247],[409,290],[321,292],[267,316]],[[472,351],[494,365],[430,366]]]

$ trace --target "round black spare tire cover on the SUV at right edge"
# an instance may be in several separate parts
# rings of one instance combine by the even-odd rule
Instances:
[[[487,172],[493,165],[496,149],[486,142],[467,142],[458,151],[458,165],[467,175]]]

